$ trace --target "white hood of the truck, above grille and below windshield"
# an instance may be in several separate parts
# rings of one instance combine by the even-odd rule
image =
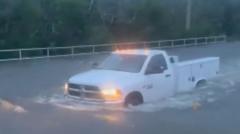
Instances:
[[[112,70],[90,70],[77,74],[69,79],[69,83],[93,85],[100,88],[124,88],[140,81],[138,73]]]

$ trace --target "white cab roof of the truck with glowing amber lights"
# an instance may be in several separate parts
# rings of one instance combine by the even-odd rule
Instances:
[[[162,50],[154,50],[154,49],[129,49],[129,50],[116,50],[113,53],[115,54],[136,54],[136,55],[156,55],[161,54],[164,51]]]

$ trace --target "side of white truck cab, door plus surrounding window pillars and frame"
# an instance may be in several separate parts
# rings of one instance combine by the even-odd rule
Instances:
[[[149,52],[141,75],[144,79],[141,92],[147,101],[156,101],[174,94],[174,73],[166,52]]]

